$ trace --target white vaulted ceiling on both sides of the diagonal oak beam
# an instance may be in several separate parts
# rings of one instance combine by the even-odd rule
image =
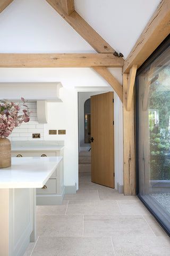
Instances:
[[[74,0],[75,10],[127,57],[160,0]],[[0,52],[95,52],[45,0],[14,0],[0,14]]]

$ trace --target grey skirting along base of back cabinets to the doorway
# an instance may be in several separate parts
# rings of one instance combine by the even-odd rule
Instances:
[[[76,194],[76,184],[64,186],[61,195],[37,195],[37,205],[61,205],[65,194]]]

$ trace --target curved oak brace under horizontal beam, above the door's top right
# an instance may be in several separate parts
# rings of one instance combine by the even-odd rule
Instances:
[[[117,79],[111,74],[106,67],[92,67],[100,76],[102,76],[109,85],[112,86],[113,90],[117,93],[118,97],[123,102],[123,86]]]

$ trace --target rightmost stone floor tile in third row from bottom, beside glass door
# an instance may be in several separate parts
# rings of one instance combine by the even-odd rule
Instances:
[[[140,201],[119,200],[117,203],[124,215],[150,215],[149,211]]]

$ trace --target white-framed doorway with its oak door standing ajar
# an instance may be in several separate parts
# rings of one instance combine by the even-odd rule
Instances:
[[[114,188],[113,98],[108,91],[78,92],[79,188]]]

